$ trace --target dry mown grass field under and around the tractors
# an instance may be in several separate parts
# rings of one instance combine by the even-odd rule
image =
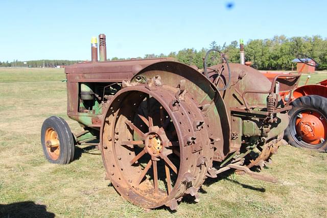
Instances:
[[[0,217],[327,217],[327,154],[283,146],[263,170],[277,184],[234,173],[209,180],[200,202],[183,200],[177,212],[144,211],[104,180],[100,151],[78,148],[68,165],[46,161],[40,129],[51,115],[66,116],[61,69],[0,68]],[[327,78],[312,74],[311,83]],[[306,77],[302,77],[302,82]]]

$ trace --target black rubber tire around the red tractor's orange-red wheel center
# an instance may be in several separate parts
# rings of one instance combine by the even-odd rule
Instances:
[[[313,111],[319,113],[322,119],[327,120],[327,98],[319,95],[302,96],[292,102],[293,108],[288,112],[290,123],[285,129],[285,139],[294,147],[305,147],[313,150],[327,150],[327,140],[319,144],[310,144],[300,139],[296,130],[297,115],[302,111]]]

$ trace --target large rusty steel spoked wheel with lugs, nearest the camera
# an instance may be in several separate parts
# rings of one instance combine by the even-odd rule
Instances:
[[[105,118],[102,155],[107,175],[124,198],[145,208],[166,205],[175,210],[184,194],[198,199],[212,165],[208,154],[213,152],[199,143],[208,140],[207,133],[195,133],[192,126],[200,113],[192,114],[192,103],[186,100],[173,103],[172,89],[125,88]]]

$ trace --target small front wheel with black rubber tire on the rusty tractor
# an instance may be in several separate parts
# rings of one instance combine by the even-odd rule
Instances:
[[[49,148],[49,142],[46,138],[49,137],[49,131],[55,136],[55,140],[59,141],[57,152]],[[66,121],[57,116],[51,116],[44,120],[41,128],[41,145],[43,154],[50,163],[68,164],[74,159],[74,137]],[[48,146],[47,146],[48,145]]]

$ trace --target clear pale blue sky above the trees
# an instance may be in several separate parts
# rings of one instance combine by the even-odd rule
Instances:
[[[90,59],[90,38],[99,33],[109,58],[207,48],[214,40],[327,37],[327,1],[0,2],[0,61]]]

